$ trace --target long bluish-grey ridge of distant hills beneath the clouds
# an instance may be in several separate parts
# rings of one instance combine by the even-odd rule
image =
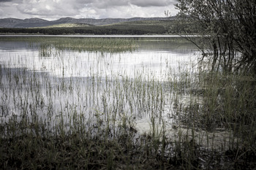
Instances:
[[[17,18],[4,18],[0,19],[1,28],[38,28],[49,27],[65,24],[86,24],[91,26],[110,25],[114,23],[125,23],[132,21],[159,21],[159,20],[175,20],[176,17],[171,18],[105,18],[105,19],[93,19],[93,18],[60,18],[59,20],[42,20],[40,18],[28,18],[20,20]]]

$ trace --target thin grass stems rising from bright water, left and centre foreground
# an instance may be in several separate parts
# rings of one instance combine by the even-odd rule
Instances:
[[[50,77],[1,68],[1,167],[4,169],[159,169],[157,119],[162,85],[142,76]],[[114,75],[113,75],[114,77]],[[138,117],[153,133],[139,136]],[[166,165],[162,164],[166,163]]]

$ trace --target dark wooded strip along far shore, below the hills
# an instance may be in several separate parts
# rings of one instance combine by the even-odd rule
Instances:
[[[95,35],[143,35],[165,34],[172,21],[140,21],[117,23],[105,26],[67,25],[50,26],[50,28],[0,28],[0,34],[95,34]]]

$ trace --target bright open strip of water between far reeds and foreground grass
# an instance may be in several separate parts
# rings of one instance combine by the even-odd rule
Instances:
[[[134,77],[135,73],[140,72],[154,74],[157,80],[164,80],[165,74],[170,69],[177,70],[181,64],[196,63],[197,47],[181,37],[167,36],[159,39],[153,36],[153,39],[150,37],[149,40],[143,41],[138,41],[137,36],[129,38],[137,40],[136,48],[132,52],[83,51],[81,53],[74,50],[60,52],[51,49],[51,54],[47,58],[41,57],[39,49],[29,46],[28,42],[0,41],[0,62],[9,63],[7,65],[10,68],[25,67],[29,71],[48,72],[56,77],[89,77],[91,74],[100,74],[104,77],[126,74]],[[174,38],[177,41],[173,41]]]

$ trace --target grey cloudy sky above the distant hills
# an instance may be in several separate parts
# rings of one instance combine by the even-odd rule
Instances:
[[[177,0],[0,0],[0,18],[133,18],[176,15]]]

